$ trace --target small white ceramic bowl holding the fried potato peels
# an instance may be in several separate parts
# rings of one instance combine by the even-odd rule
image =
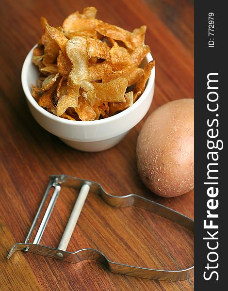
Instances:
[[[33,48],[34,49],[34,48]],[[40,107],[31,95],[31,84],[36,84],[38,70],[32,63],[33,49],[27,55],[21,72],[22,87],[35,120],[44,129],[58,136],[65,144],[81,151],[97,152],[118,144],[147,113],[154,95],[155,68],[141,97],[128,109],[114,116],[93,121],[73,121],[55,116]],[[142,62],[152,60],[150,53]]]

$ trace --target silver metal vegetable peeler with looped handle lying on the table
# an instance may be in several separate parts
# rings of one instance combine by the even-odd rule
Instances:
[[[45,227],[48,224],[49,217],[55,202],[58,198],[58,195],[61,190],[61,185],[67,187],[73,187],[76,189],[81,189],[74,208],[71,212],[68,223],[65,227],[65,231],[63,233],[62,239],[59,243],[58,248],[52,248],[48,246],[44,246],[39,244],[41,237],[44,233]],[[33,233],[34,227],[37,223],[37,220],[41,214],[41,211],[44,207],[45,201],[49,195],[50,189],[54,187],[54,192],[51,196],[48,208],[43,216],[42,222],[38,228],[35,239],[33,243],[29,243],[31,235]],[[156,203],[152,200],[146,199],[142,196],[129,194],[126,196],[115,196],[112,194],[108,194],[104,191],[102,186],[93,181],[83,180],[80,178],[74,178],[66,175],[52,175],[50,176],[50,181],[48,188],[44,194],[43,200],[39,206],[39,209],[36,213],[36,216],[33,220],[33,224],[30,228],[28,236],[24,243],[15,243],[11,248],[7,259],[9,259],[16,251],[24,250],[26,252],[32,252],[38,255],[51,257],[53,259],[59,259],[63,261],[67,261],[70,263],[78,263],[85,259],[94,259],[101,262],[105,267],[113,273],[118,273],[122,275],[130,275],[135,277],[147,278],[147,279],[155,279],[155,280],[165,280],[165,281],[180,281],[191,278],[194,275],[194,266],[184,269],[184,270],[156,270],[149,269],[137,266],[130,266],[127,264],[116,263],[109,260],[101,251],[85,248],[78,250],[74,253],[67,252],[66,248],[70,241],[71,235],[74,231],[74,228],[77,224],[77,220],[81,213],[82,207],[86,200],[86,197],[89,191],[100,194],[102,199],[112,207],[122,208],[129,206],[136,206],[143,208],[145,210],[149,210],[153,213],[163,216],[175,223],[178,223],[181,226],[184,226],[191,231],[194,231],[194,221],[183,214],[172,210],[168,207],[165,207],[159,203]]]

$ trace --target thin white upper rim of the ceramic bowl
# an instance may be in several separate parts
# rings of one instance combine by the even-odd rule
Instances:
[[[131,113],[134,111],[136,107],[138,107],[141,103],[144,102],[144,100],[147,98],[147,95],[149,91],[152,89],[154,81],[155,81],[155,67],[152,69],[150,77],[147,81],[146,88],[143,92],[143,94],[137,99],[137,101],[129,108],[123,110],[120,113],[117,113],[113,116],[109,116],[103,119],[98,119],[98,120],[90,120],[90,121],[78,121],[78,120],[68,120],[65,118],[62,118],[60,116],[56,116],[52,113],[49,113],[46,109],[41,107],[33,98],[31,94],[31,88],[29,88],[28,81],[27,81],[27,75],[28,75],[28,68],[29,65],[32,63],[32,55],[33,55],[33,49],[36,48],[37,44],[33,46],[33,48],[29,51],[27,54],[25,61],[22,66],[21,70],[21,83],[22,83],[22,88],[24,90],[25,96],[27,100],[33,105],[33,107],[41,114],[44,114],[47,118],[52,119],[53,121],[60,122],[63,124],[68,124],[68,125],[77,125],[77,126],[92,126],[92,125],[100,125],[104,123],[109,123],[112,121],[115,121],[116,119],[119,119],[121,117],[124,117],[125,115]],[[150,62],[153,60],[153,57],[150,52],[147,53],[146,57],[147,62]],[[32,63],[33,65],[33,63]]]

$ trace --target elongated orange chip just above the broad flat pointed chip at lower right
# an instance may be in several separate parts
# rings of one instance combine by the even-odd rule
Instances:
[[[137,67],[128,66],[122,71],[115,71],[111,74],[106,74],[103,78],[103,82],[111,81],[119,77],[126,78],[128,80],[128,87],[135,84],[144,75],[144,70]]]

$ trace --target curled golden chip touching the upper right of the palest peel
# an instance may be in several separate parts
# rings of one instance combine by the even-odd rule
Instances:
[[[87,53],[90,58],[110,59],[109,48],[99,39],[87,37]]]

